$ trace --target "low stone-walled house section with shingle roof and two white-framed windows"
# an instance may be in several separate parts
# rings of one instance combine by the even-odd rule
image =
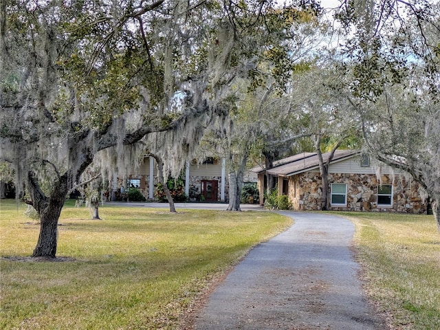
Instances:
[[[322,154],[324,162],[330,153]],[[266,175],[278,179],[278,195],[287,195],[294,210],[318,210],[322,177],[316,153],[300,153],[274,163],[274,168],[254,168],[260,196]],[[336,151],[329,163],[329,210],[424,213],[426,195],[408,173],[371,162],[358,151]],[[260,199],[263,203],[263,199]]]

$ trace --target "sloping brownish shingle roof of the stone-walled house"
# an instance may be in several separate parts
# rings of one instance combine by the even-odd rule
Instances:
[[[358,151],[354,150],[337,150],[333,155],[333,159],[331,159],[331,164],[358,155],[358,153]],[[324,162],[327,162],[329,156],[330,153],[322,154]],[[319,159],[317,153],[299,153],[298,155],[281,159],[278,161],[278,164],[274,163],[274,168],[267,170],[266,173],[281,177],[289,177],[318,167]],[[255,172],[262,172],[263,170],[264,169],[260,166],[259,170],[255,170]]]

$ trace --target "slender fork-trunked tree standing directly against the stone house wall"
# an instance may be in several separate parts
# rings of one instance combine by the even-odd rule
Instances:
[[[316,65],[298,77],[298,84],[292,89],[295,107],[318,155],[322,178],[321,210],[329,208],[329,164],[334,153],[340,146],[360,146],[359,116],[353,115],[344,94],[346,83],[347,77],[338,69],[336,59],[322,56]],[[330,153],[327,159],[323,159],[323,152]]]

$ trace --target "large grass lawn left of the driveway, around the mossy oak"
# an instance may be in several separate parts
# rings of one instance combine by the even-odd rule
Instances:
[[[68,203],[58,228],[65,261],[36,262],[25,257],[39,224],[24,211],[1,201],[0,329],[177,329],[213,278],[292,221],[270,212],[111,206],[96,221]]]

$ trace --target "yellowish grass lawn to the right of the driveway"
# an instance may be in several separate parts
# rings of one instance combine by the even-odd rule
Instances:
[[[336,213],[355,223],[366,291],[392,329],[440,329],[440,234],[432,216]]]

